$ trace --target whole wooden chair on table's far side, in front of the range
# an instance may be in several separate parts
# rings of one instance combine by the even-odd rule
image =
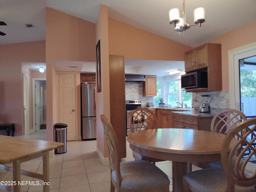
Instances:
[[[136,132],[144,129],[158,128],[158,120],[156,114],[147,108],[138,108],[132,111],[130,115],[130,132]],[[163,161],[161,159],[151,158],[132,151],[132,156],[135,160],[146,160],[156,164]]]

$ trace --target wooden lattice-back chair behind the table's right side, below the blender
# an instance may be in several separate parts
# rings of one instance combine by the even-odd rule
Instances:
[[[245,114],[239,110],[224,109],[214,115],[210,128],[211,131],[227,134],[235,125],[246,119]],[[193,162],[192,164],[203,169],[222,167],[221,161]]]

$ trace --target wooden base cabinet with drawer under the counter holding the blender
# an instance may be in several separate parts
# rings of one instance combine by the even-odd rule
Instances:
[[[194,117],[172,114],[173,128],[196,129],[210,131],[213,117]]]

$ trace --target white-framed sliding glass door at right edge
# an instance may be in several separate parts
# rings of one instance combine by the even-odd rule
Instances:
[[[255,110],[250,109],[250,105],[245,106],[247,102],[254,99],[254,93],[244,94],[244,92],[249,93],[250,91],[246,90],[247,87],[250,87],[250,83],[253,81],[254,77],[246,75],[248,73],[255,73],[255,63],[244,62],[248,60],[247,58],[254,58],[256,56],[256,42],[242,46],[240,48],[230,50],[229,54],[229,95],[230,95],[230,108],[240,110],[244,112],[247,118],[255,117]],[[249,59],[249,60],[251,60]],[[246,66],[247,65],[247,66]],[[245,79],[247,78],[247,80]],[[254,85],[255,88],[255,85]],[[250,90],[253,90],[250,88]],[[255,106],[255,102],[252,103]],[[251,105],[252,105],[251,104]],[[255,108],[255,107],[254,107]],[[250,137],[251,135],[248,135]],[[254,147],[256,144],[252,144]],[[250,151],[249,151],[250,152]],[[250,162],[256,163],[256,157],[251,158]],[[250,165],[250,164],[249,164]],[[254,168],[254,164],[251,164],[248,167],[249,170]]]

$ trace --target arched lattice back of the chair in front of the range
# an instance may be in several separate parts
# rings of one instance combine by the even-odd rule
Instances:
[[[156,114],[147,108],[138,108],[133,110],[129,121],[130,132],[158,128]]]

